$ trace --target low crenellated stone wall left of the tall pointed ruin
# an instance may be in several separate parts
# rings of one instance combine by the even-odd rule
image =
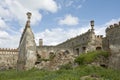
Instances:
[[[18,49],[0,48],[0,70],[15,69]]]

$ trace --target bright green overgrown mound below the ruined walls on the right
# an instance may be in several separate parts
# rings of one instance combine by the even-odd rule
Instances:
[[[80,54],[80,56],[78,56],[75,59],[75,62],[78,63],[79,65],[89,64],[95,61],[100,56],[107,58],[109,56],[109,53],[106,51],[93,51],[93,52],[88,52],[88,53],[82,53]]]

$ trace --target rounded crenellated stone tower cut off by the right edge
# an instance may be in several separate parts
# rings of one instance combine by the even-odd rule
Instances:
[[[110,25],[106,29],[103,46],[104,50],[108,50],[111,53],[109,67],[120,69],[120,22],[119,24]]]

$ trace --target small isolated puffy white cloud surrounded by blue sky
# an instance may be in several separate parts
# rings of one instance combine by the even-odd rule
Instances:
[[[74,26],[79,24],[79,19],[77,17],[72,16],[71,14],[68,14],[65,16],[64,19],[59,20],[58,23],[60,25]]]

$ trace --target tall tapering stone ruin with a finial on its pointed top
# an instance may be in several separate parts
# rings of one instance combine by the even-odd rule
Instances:
[[[19,43],[18,70],[29,70],[33,68],[37,60],[36,43],[34,34],[30,28],[31,15],[30,12],[27,13],[28,20]]]

